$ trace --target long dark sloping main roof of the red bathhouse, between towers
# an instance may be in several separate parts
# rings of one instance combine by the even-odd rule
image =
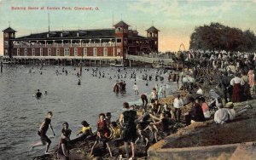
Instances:
[[[61,37],[62,35],[62,37]],[[77,30],[77,31],[47,31],[42,33],[31,34],[29,36],[18,37],[22,39],[62,39],[62,38],[93,38],[93,37],[114,37],[114,29],[99,29],[99,30]]]

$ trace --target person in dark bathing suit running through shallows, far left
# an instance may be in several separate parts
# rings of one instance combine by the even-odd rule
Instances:
[[[47,117],[44,119],[44,122],[41,124],[39,130],[38,130],[38,135],[41,138],[41,141],[38,141],[36,144],[31,146],[31,151],[34,147],[36,146],[44,146],[46,145],[46,149],[45,149],[45,154],[49,154],[48,150],[49,150],[49,145],[51,143],[51,140],[49,140],[48,136],[46,135],[47,130],[50,128],[55,136],[55,132],[52,128],[51,125],[51,117],[52,117],[52,112],[48,111],[47,113]]]

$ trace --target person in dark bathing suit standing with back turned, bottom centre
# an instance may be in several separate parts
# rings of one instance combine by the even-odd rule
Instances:
[[[119,123],[123,130],[123,140],[125,141],[126,157],[129,157],[128,142],[131,142],[131,158],[135,157],[135,140],[137,138],[137,129],[135,120],[137,119],[137,111],[131,110],[127,102],[123,103],[125,111],[119,117]]]

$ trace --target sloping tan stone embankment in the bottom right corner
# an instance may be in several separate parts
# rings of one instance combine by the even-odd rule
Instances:
[[[252,105],[233,122],[213,120],[178,129],[148,149],[148,159],[255,159],[256,100],[241,102],[235,110]]]

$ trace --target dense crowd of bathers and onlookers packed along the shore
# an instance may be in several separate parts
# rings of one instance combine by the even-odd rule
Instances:
[[[70,140],[72,132],[68,129],[68,123],[63,123],[57,151],[58,158],[68,159],[71,144],[88,140],[91,137],[95,137],[93,139],[95,143],[90,150],[91,156],[94,155],[95,148],[101,144],[108,148],[110,157],[119,156],[113,153],[111,146],[113,141],[117,140],[125,146],[125,152],[120,153],[123,154],[122,157],[134,158],[137,146],[146,151],[148,146],[175,132],[174,128],[177,124],[185,126],[208,119],[214,119],[215,123],[224,124],[234,120],[237,115],[245,111],[243,108],[241,111],[236,111],[234,103],[250,100],[256,94],[254,76],[256,57],[253,54],[214,53],[208,56],[201,51],[190,51],[187,54],[188,58],[183,62],[181,75],[170,74],[168,80],[172,79],[178,84],[181,76],[180,81],[183,85],[179,89],[187,90],[189,96],[183,97],[181,94],[176,94],[172,104],[161,104],[160,98],[166,97],[165,85],[154,86],[149,95],[140,94],[136,83],[136,72],[133,71],[130,77],[130,79],[135,79],[132,89],[134,94],[140,94],[143,105],[132,106],[124,102],[125,111],[119,115],[118,120],[111,119],[110,112],[100,113],[95,132],[92,132],[90,124],[83,120],[81,123],[83,127],[78,132],[79,137],[74,140]],[[99,71],[93,71],[94,77],[99,74]],[[100,76],[102,77],[102,75],[105,77],[105,73],[101,73]],[[121,79],[127,75],[127,72],[122,76],[117,72],[114,77]],[[156,75],[155,80],[158,80],[159,77]],[[143,80],[151,81],[152,76],[145,74]],[[113,91],[125,89],[124,85],[125,81],[117,81]],[[211,89],[218,90],[218,94],[207,94],[206,88],[209,86]],[[210,101],[213,101],[214,108],[210,106]],[[184,106],[191,106],[188,112],[183,112]],[[248,106],[244,108],[248,108]],[[51,141],[47,137],[46,131],[49,127],[52,129],[51,117],[52,112],[49,111],[38,131],[41,141],[32,145],[32,148],[46,145],[45,152],[48,152]]]

